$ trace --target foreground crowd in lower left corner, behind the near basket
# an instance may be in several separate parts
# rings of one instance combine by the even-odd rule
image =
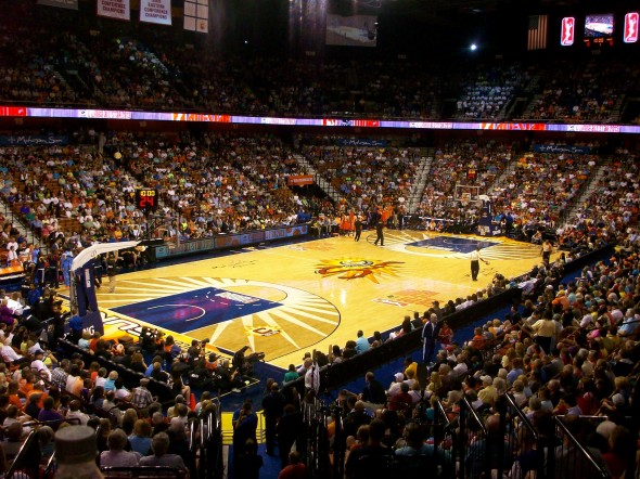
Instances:
[[[170,336],[156,337],[151,348],[142,340],[129,346],[108,341],[99,333],[82,332],[81,321],[74,327],[76,318],[68,322],[66,339],[95,360],[86,363],[82,354],[74,353],[59,361],[56,345],[65,336],[68,315],[62,313],[55,293],[44,290],[34,306],[23,302],[20,311],[10,310],[8,299],[1,307],[0,325],[0,432],[5,440],[0,442],[0,455],[9,465],[31,431],[41,437],[46,464],[53,453],[53,432],[81,424],[100,427],[100,466],[164,465],[193,474],[195,457],[189,453],[189,441],[194,437],[191,428],[199,425],[193,419],[215,413],[216,405],[208,393],[197,404],[190,401],[191,389],[182,378],[187,381],[191,373],[203,368],[217,378],[208,385],[210,389],[225,390],[222,383],[228,380],[231,387],[233,381],[230,365],[215,355],[205,357],[200,342],[182,352]],[[149,365],[142,346],[153,357]],[[108,371],[98,360],[141,373],[139,384],[125,384],[117,368]],[[175,405],[163,409],[148,389],[152,378],[170,385]],[[191,386],[196,386],[195,379]]]

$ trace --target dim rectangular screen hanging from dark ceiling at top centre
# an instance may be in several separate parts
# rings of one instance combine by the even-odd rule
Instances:
[[[327,44],[375,47],[377,17],[374,15],[327,15]]]

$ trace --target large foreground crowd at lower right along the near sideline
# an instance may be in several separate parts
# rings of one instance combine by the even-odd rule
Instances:
[[[346,445],[346,476],[362,477],[366,463],[376,467],[391,464],[391,459],[377,461],[381,455],[395,455],[397,465],[402,464],[404,455],[411,455],[431,458],[424,464],[432,467],[436,463],[444,467],[451,461],[451,444],[439,444],[439,450],[434,444],[435,403],[441,403],[457,427],[463,398],[488,433],[485,437],[478,430],[459,439],[468,441],[466,456],[459,461],[465,462],[472,477],[481,477],[484,470],[484,454],[476,452],[482,449],[477,442],[485,440],[504,441],[500,467],[505,472],[525,477],[539,471],[540,465],[533,461],[534,441],[522,425],[522,430],[507,427],[505,437],[499,432],[498,402],[504,394],[513,397],[539,436],[555,449],[555,477],[566,472],[561,467],[566,467],[562,459],[567,450],[554,432],[553,416],[562,417],[596,464],[611,477],[622,477],[628,461],[635,462],[637,468],[640,455],[632,456],[637,438],[630,429],[630,417],[640,360],[640,242],[636,234],[618,235],[622,247],[609,261],[585,267],[575,277],[564,275],[566,263],[562,256],[553,263],[536,267],[522,283],[497,275],[479,298],[459,299],[444,308],[434,303],[424,314],[406,316],[386,340],[422,329],[435,315],[440,324],[440,350],[423,384],[418,377],[420,361],[407,358],[393,377],[379,378],[369,372],[361,391],[340,392],[336,406],[344,430],[334,440]],[[523,302],[514,305],[504,318],[477,325],[473,337],[455,337],[446,320],[441,320],[510,287],[523,288]],[[367,353],[382,342],[380,334],[368,340],[359,332],[358,338],[345,348],[334,346],[329,354],[316,351],[315,358],[308,354],[297,372],[291,365],[285,381],[305,376],[306,390],[321,393],[318,368]],[[330,425],[328,432],[333,440],[332,431]],[[443,453],[445,456],[436,462],[435,455]],[[497,469],[497,462],[491,462],[490,467]]]

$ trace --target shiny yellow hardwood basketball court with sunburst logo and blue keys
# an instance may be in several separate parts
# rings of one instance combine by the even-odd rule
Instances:
[[[208,338],[222,352],[246,345],[286,368],[304,351],[344,347],[358,329],[372,336],[397,328],[434,300],[465,297],[497,272],[520,275],[540,261],[539,246],[503,237],[386,230],[384,247],[374,239],[366,231],[358,243],[337,236],[161,263],[118,275],[116,293],[102,287],[98,300],[119,325],[153,324],[183,342]],[[490,264],[481,263],[473,282],[469,253],[476,245]]]

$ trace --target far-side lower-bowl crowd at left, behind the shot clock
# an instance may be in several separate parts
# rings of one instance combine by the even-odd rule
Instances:
[[[93,132],[91,130],[91,132]],[[97,145],[0,148],[5,202],[43,243],[144,237],[137,186],[157,187],[161,233],[182,239],[297,221],[303,199],[287,185],[305,171],[271,135],[171,135],[93,132]],[[115,152],[115,153],[114,153]],[[197,168],[190,165],[197,163]],[[26,168],[26,165],[29,165]]]

